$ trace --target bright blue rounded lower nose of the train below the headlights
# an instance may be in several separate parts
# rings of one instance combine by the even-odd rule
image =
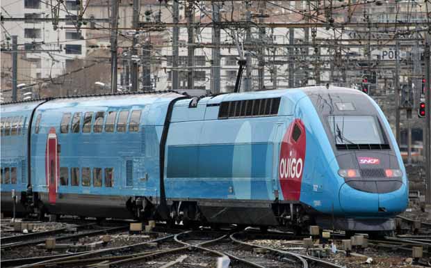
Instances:
[[[387,214],[398,214],[407,207],[407,200],[405,198],[407,196],[407,187],[405,187],[405,184],[401,183],[402,185],[398,190],[384,194],[377,194],[376,188],[378,185],[376,182],[359,181],[355,182],[355,184],[360,184],[355,185],[355,188],[359,188],[362,191],[353,189],[346,183],[340,188],[340,206],[345,214],[384,216]]]

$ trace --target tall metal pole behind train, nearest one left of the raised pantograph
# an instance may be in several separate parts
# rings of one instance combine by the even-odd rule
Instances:
[[[211,93],[220,93],[220,7],[218,3],[213,2],[213,22],[212,42],[214,44],[211,49]]]

